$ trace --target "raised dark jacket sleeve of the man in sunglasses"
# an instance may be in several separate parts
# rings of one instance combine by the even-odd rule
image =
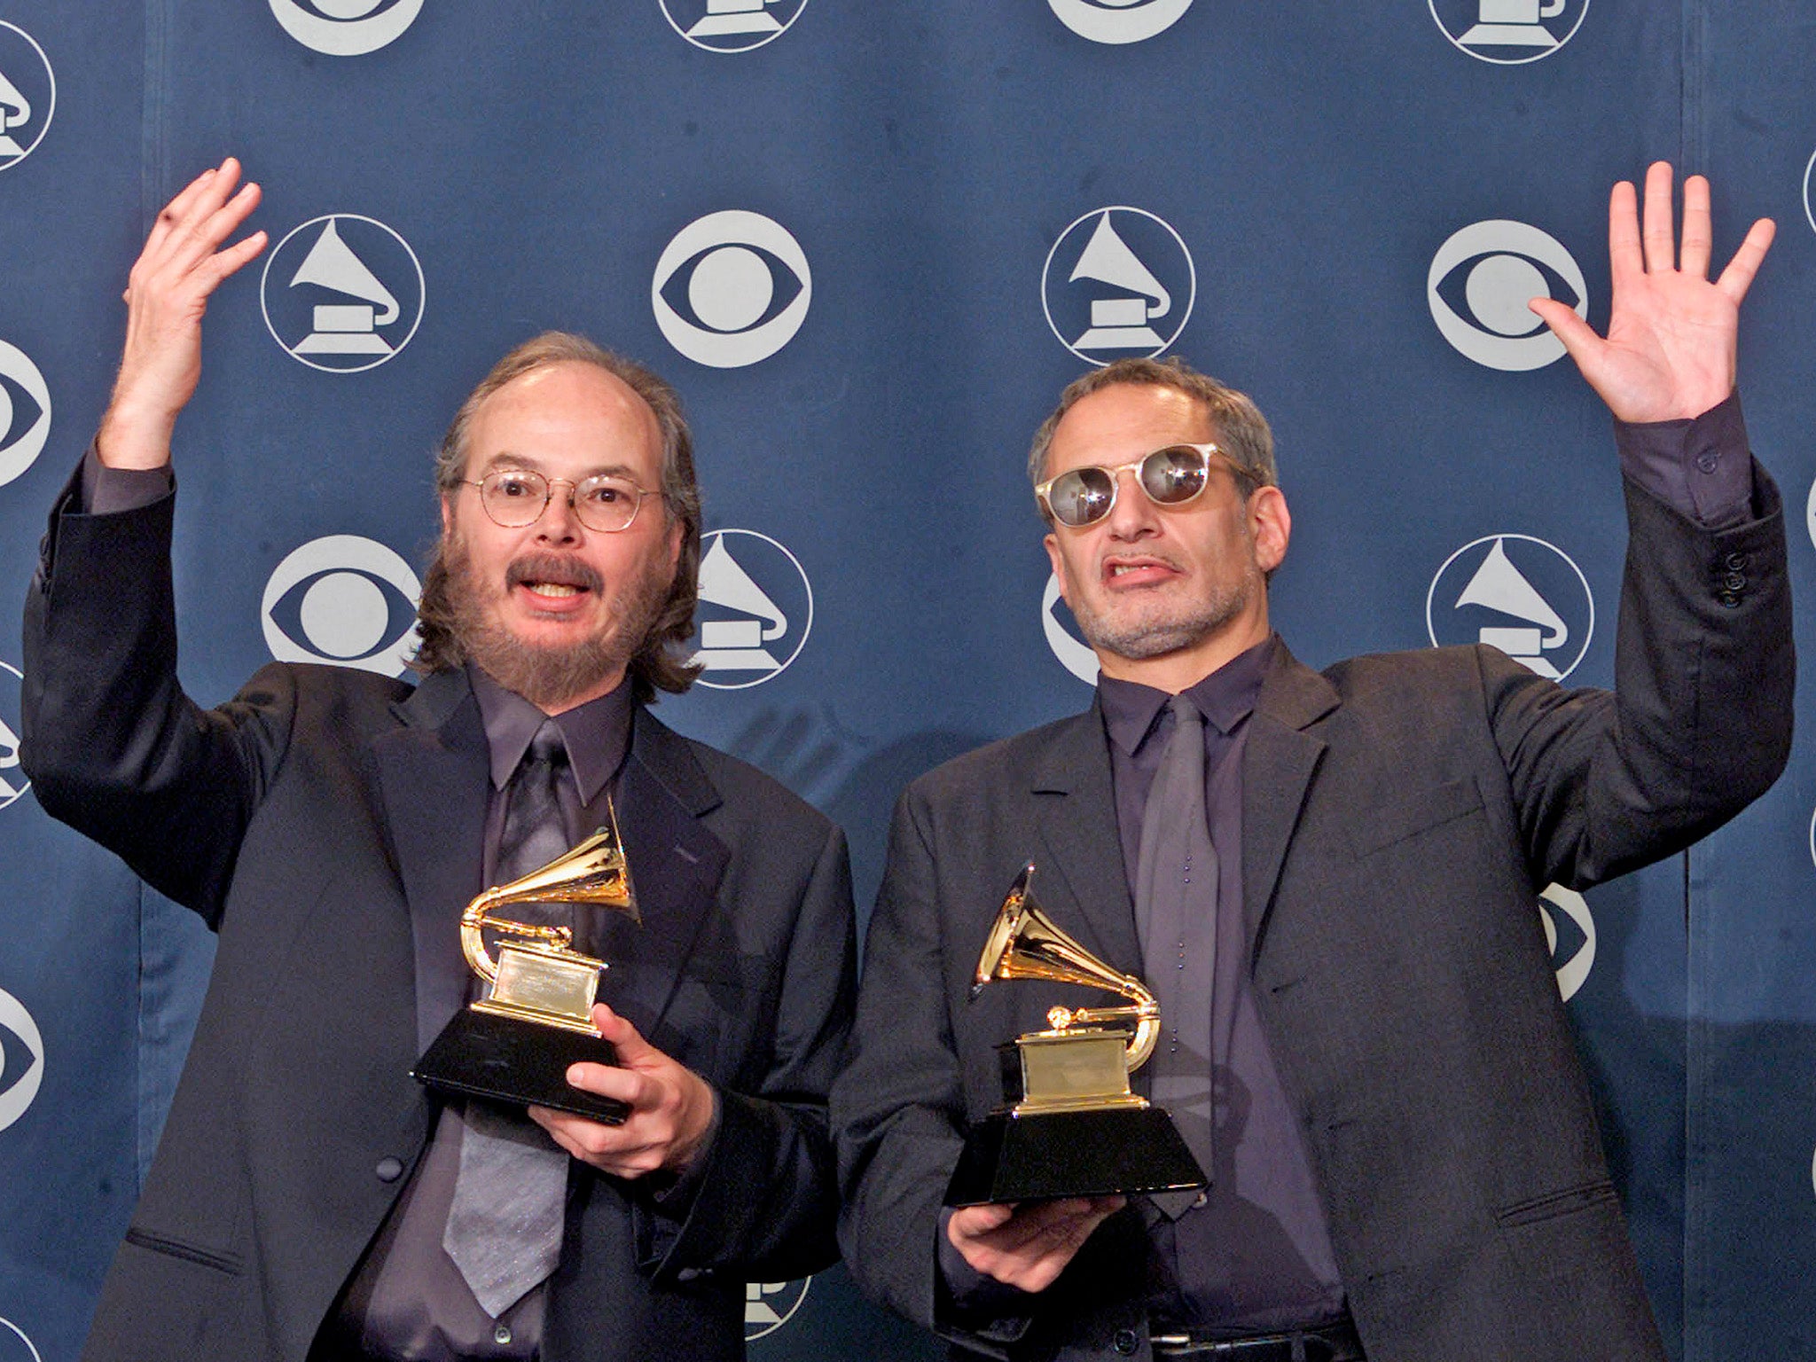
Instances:
[[[1564,690],[1478,650],[1535,883],[1584,888],[1734,817],[1791,752],[1796,656],[1783,505],[1698,525],[1627,483],[1614,690]]]

